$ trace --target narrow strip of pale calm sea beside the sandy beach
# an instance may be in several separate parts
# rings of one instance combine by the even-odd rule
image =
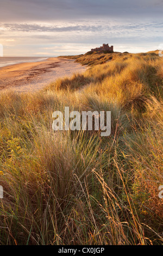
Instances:
[[[0,57],[0,68],[2,66],[14,65],[23,62],[40,62],[49,57]]]

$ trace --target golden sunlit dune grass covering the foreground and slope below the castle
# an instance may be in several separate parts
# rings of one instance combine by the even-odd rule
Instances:
[[[1,92],[1,245],[162,244],[163,60],[114,55],[38,93]],[[111,111],[111,135],[54,132],[65,106]]]

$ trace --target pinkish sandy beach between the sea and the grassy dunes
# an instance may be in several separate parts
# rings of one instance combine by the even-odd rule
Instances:
[[[74,60],[48,58],[41,62],[20,63],[0,68],[0,90],[35,92],[59,77],[84,72],[87,68]]]

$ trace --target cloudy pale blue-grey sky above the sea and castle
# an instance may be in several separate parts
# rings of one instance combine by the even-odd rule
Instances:
[[[163,44],[163,0],[0,0],[4,56],[132,53]]]

